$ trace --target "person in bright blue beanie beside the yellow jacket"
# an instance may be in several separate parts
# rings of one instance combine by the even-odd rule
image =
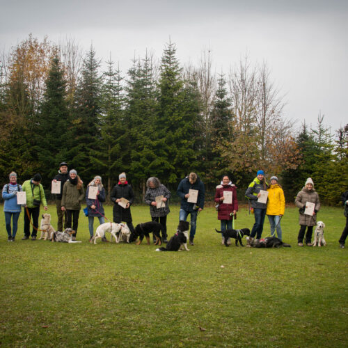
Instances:
[[[261,238],[264,218],[266,217],[267,186],[268,184],[264,177],[264,171],[258,171],[255,179],[245,192],[245,196],[251,203],[251,209],[253,209],[255,216],[255,223],[251,230],[250,237],[255,237],[256,235],[257,239]]]

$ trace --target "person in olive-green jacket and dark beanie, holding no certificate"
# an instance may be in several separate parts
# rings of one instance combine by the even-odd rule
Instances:
[[[72,228],[72,240],[76,240],[81,202],[84,196],[84,185],[77,171],[72,169],[69,172],[69,179],[64,184],[61,202],[61,209],[67,214],[67,228]]]

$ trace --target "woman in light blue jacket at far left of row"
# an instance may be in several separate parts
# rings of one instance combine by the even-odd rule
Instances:
[[[17,174],[11,172],[10,182],[4,185],[2,189],[2,198],[5,200],[3,212],[5,212],[6,231],[8,234],[8,242],[15,242],[18,228],[18,218],[22,211],[22,206],[17,204],[17,192],[23,191],[22,186],[17,184]],[[13,221],[11,231],[11,219]]]

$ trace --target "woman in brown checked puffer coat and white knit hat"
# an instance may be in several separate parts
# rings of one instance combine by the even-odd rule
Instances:
[[[303,246],[303,237],[306,232],[306,245],[312,246],[313,226],[317,225],[317,212],[320,209],[319,195],[314,189],[313,180],[308,177],[305,187],[297,193],[296,207],[299,207],[300,230],[297,245]]]

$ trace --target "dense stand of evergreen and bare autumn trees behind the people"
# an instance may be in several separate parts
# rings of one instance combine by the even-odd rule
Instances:
[[[207,198],[228,173],[243,200],[262,168],[279,177],[289,202],[312,177],[322,202],[338,205],[348,187],[348,124],[329,129],[319,111],[316,127],[299,126],[306,115],[287,119],[284,106],[267,62],[248,56],[216,74],[209,51],[182,65],[169,40],[161,58],[146,52],[122,73],[93,46],[84,54],[72,39],[29,35],[0,57],[0,184],[10,171],[19,182],[39,172],[49,194],[67,161],[85,185],[102,175],[107,192],[125,171],[138,202],[148,177],[174,193],[191,171]]]

